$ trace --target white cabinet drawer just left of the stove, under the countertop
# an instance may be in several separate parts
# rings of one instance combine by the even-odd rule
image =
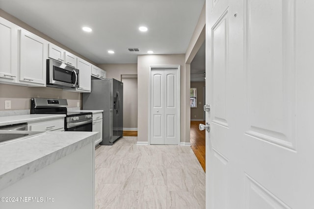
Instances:
[[[64,130],[64,119],[48,120],[36,123],[28,124],[29,131],[63,131]]]

